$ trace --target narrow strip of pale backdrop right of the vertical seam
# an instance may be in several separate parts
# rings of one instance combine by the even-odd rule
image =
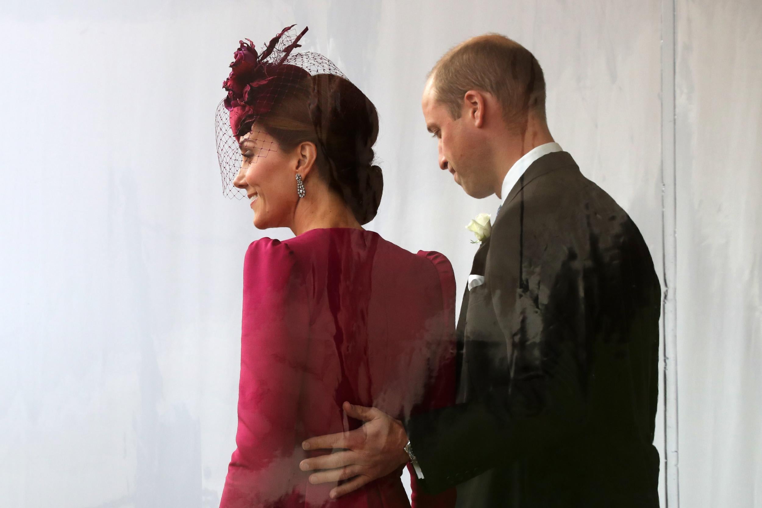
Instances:
[[[762,506],[762,2],[677,2],[680,506]]]

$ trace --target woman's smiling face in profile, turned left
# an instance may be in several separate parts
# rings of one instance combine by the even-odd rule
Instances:
[[[283,152],[274,138],[256,125],[239,138],[239,146],[243,160],[233,185],[246,191],[255,227],[260,230],[289,227],[299,199],[296,194],[299,157]]]

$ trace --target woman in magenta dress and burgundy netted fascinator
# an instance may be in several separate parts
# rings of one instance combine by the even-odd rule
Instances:
[[[246,252],[238,448],[220,506],[410,506],[402,471],[331,500],[335,485],[299,471],[312,456],[301,442],[357,428],[344,400],[400,419],[453,403],[453,271],[437,252],[363,230],[383,188],[376,108],[327,59],[291,55],[304,32],[289,28],[261,54],[243,42],[235,52],[217,136],[240,150],[232,183],[255,227],[296,235]],[[453,491],[413,487],[415,506],[454,504]]]

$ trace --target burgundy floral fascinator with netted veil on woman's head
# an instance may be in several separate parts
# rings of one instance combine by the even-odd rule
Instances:
[[[228,78],[223,88],[228,95],[217,106],[215,118],[217,157],[223,177],[223,194],[242,198],[244,193],[233,186],[241,167],[239,137],[251,131],[258,117],[271,111],[274,104],[288,95],[308,76],[333,74],[346,76],[319,53],[292,53],[301,47],[299,40],[308,28],[295,35],[286,27],[258,53],[251,40],[240,41],[233,53]]]

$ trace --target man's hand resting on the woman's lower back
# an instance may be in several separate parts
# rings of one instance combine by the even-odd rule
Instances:
[[[352,478],[331,490],[331,499],[386,476],[409,460],[404,449],[408,435],[399,420],[375,407],[353,406],[348,402],[344,402],[344,411],[351,418],[363,420],[363,426],[350,432],[310,438],[302,443],[306,450],[342,449],[331,455],[307,458],[299,464],[302,471],[326,470],[311,474],[311,484]]]

